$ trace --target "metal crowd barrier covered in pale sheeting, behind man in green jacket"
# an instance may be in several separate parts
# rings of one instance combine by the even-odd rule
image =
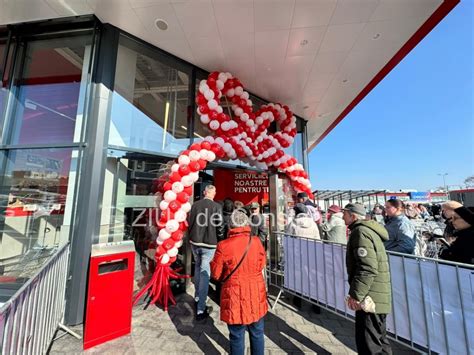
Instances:
[[[347,308],[346,246],[274,232],[269,284],[354,320]],[[276,243],[275,243],[276,240]],[[388,252],[389,336],[429,354],[474,354],[474,266]]]

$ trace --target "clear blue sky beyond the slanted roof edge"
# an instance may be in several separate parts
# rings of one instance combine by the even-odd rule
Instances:
[[[474,175],[473,4],[461,0],[310,152],[313,189],[428,191],[444,173],[456,189]]]

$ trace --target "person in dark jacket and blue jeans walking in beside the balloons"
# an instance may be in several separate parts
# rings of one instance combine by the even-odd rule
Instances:
[[[212,312],[212,307],[206,306],[211,275],[210,262],[214,257],[217,242],[224,239],[222,207],[214,202],[215,195],[215,186],[207,185],[204,198],[193,204],[188,215],[189,241],[195,262],[194,301],[198,321],[206,319]]]

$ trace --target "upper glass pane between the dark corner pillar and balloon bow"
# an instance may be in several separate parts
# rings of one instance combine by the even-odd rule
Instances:
[[[170,155],[186,149],[190,69],[174,64],[121,37],[109,145]]]

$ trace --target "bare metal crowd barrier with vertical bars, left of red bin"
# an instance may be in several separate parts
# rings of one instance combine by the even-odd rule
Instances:
[[[1,354],[44,354],[64,315],[68,244],[0,307]]]

